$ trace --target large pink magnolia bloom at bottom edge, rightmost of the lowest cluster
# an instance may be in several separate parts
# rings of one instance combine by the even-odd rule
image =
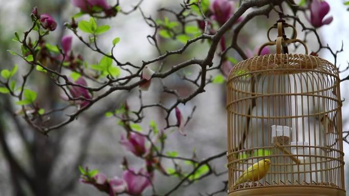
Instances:
[[[141,168],[137,173],[130,168],[122,173],[122,178],[127,183],[127,193],[140,195],[143,190],[151,185],[152,175]]]

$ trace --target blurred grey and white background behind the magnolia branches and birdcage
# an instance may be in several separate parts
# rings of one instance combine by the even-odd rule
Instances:
[[[114,4],[114,1],[109,1]],[[132,9],[132,5],[138,3],[138,0],[120,1],[123,10]],[[152,15],[153,18],[167,16],[171,19],[172,15],[165,12],[157,12],[159,8],[169,8],[179,10],[182,0],[145,0],[141,6],[146,16]],[[349,18],[349,12],[343,6],[342,1],[328,1],[331,6],[330,15],[333,15],[333,22],[320,28],[319,33],[323,43],[328,43],[330,47],[337,50],[344,43],[344,52],[338,55],[338,65],[342,69],[348,65],[349,50],[349,24],[344,22],[344,18]],[[31,25],[30,13],[34,6],[38,7],[39,13],[49,13],[58,23],[57,30],[49,35],[47,39],[53,45],[60,44],[63,35],[71,35],[71,32],[65,30],[63,23],[70,20],[70,17],[79,10],[74,8],[68,0],[0,0],[0,69],[10,68],[18,64],[19,73],[26,71],[26,64],[18,57],[14,57],[6,50],[20,50],[19,46],[12,41],[14,32],[21,33],[29,29]],[[309,15],[309,13],[307,13]],[[304,14],[300,14],[301,19],[308,24]],[[83,16],[82,19],[88,18]],[[239,43],[244,49],[253,50],[256,46],[264,43],[266,39],[266,30],[275,23],[277,16],[272,12],[267,19],[265,16],[257,17],[248,23],[240,33]],[[149,60],[157,56],[157,50],[148,43],[146,36],[153,33],[142,18],[139,11],[130,15],[118,15],[116,18],[98,21],[108,23],[111,30],[99,37],[98,44],[101,49],[108,51],[113,38],[120,37],[121,41],[114,50],[115,57],[121,61],[131,61],[139,65],[142,60]],[[298,33],[303,37],[300,26],[297,26]],[[308,48],[317,49],[318,45],[314,38],[308,36]],[[181,56],[183,59],[190,57],[201,58],[206,55],[208,49],[207,42],[195,44]],[[160,39],[160,47],[165,49],[176,49],[181,44],[176,41]],[[91,52],[79,42],[79,39],[73,38],[73,50],[81,53],[86,61],[91,64],[99,61],[101,56]],[[298,49],[302,52],[303,49]],[[273,50],[272,50],[273,51]],[[241,60],[234,51],[231,56]],[[333,57],[328,51],[321,51],[319,57],[333,62]],[[174,65],[183,59],[174,56],[168,58],[166,66]],[[218,59],[215,60],[217,63]],[[189,67],[183,72],[195,72],[194,68]],[[341,78],[349,73],[341,73]],[[17,74],[20,79],[20,74]],[[164,80],[169,87],[180,91],[182,96],[189,94],[193,86],[182,80],[174,74]],[[347,87],[349,81],[341,83],[342,98],[349,98]],[[36,73],[35,77],[30,78],[30,82],[35,84],[32,88],[38,92],[38,102],[45,109],[57,108],[57,104],[62,103],[60,90],[55,88],[49,78],[41,73]],[[144,93],[144,102],[152,103],[162,101],[165,105],[173,103],[174,98],[161,93],[160,82],[153,81],[151,89]],[[173,130],[168,135],[167,151],[178,151],[181,156],[190,157],[193,149],[199,159],[218,154],[226,150],[227,125],[225,109],[225,86],[209,85],[206,92],[198,95],[188,104],[181,105],[182,115],[190,115],[192,108],[196,105],[196,111],[193,119],[185,127],[187,136],[180,135]],[[91,169],[98,169],[106,173],[109,177],[120,176],[122,173],[120,164],[122,157],[129,159],[129,164],[134,167],[142,166],[132,154],[124,151],[120,141],[120,133],[123,131],[117,125],[114,118],[106,118],[105,113],[114,110],[115,107],[128,101],[131,109],[137,109],[138,91],[114,93],[89,108],[77,121],[61,129],[52,131],[48,137],[38,133],[29,127],[23,119],[14,116],[18,106],[14,105],[14,100],[10,97],[0,94],[0,194],[10,195],[35,195],[35,196],[63,196],[63,195],[103,195],[97,189],[82,184],[79,181],[80,172],[78,165],[88,165]],[[343,130],[348,130],[347,117],[349,116],[349,105],[347,101],[343,102]],[[142,122],[142,127],[146,129],[151,120],[158,122],[159,127],[164,126],[164,114],[160,109],[146,109],[146,118]],[[63,115],[52,117],[52,122],[59,122],[64,118]],[[172,114],[172,122],[176,119]],[[345,161],[349,161],[349,145],[344,144]],[[213,162],[215,169],[219,172],[226,170],[226,157],[222,157]],[[168,162],[170,165],[170,162]],[[166,165],[165,165],[166,167]],[[346,184],[349,185],[349,166],[345,164]],[[199,181],[189,187],[185,187],[173,195],[198,195],[198,192],[214,192],[223,188],[221,181],[227,180],[227,175],[220,177],[209,177]],[[159,193],[164,193],[174,183],[178,182],[176,177],[164,177],[156,173],[155,184],[158,186]],[[349,186],[347,186],[348,188]],[[145,192],[145,195],[147,190]],[[221,193],[226,195],[226,193]],[[347,194],[349,195],[349,194]]]

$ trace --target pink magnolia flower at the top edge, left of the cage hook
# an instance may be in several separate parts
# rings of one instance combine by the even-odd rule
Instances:
[[[210,9],[212,12],[212,19],[216,20],[219,25],[223,25],[230,17],[232,17],[234,3],[229,2],[229,0],[214,0]],[[240,17],[238,21],[241,21],[241,19],[242,18]]]

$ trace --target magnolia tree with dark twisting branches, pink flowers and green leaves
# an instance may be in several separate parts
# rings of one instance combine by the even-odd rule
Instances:
[[[186,187],[198,182],[208,176],[226,175],[225,172],[218,173],[214,170],[212,161],[226,155],[226,151],[219,154],[208,155],[204,159],[198,159],[193,153],[192,157],[180,156],[176,151],[165,152],[166,135],[169,129],[178,129],[177,134],[186,135],[185,126],[192,119],[195,107],[191,115],[184,117],[179,109],[180,104],[186,104],[198,94],[204,93],[210,83],[223,83],[230,70],[237,63],[232,57],[237,52],[241,59],[247,59],[257,54],[255,51],[242,48],[239,45],[239,33],[242,28],[253,18],[268,16],[276,12],[285,20],[300,26],[305,31],[304,41],[309,36],[314,36],[318,42],[318,48],[312,52],[317,55],[321,50],[329,51],[334,58],[336,65],[337,54],[342,51],[333,50],[320,39],[317,29],[322,25],[330,24],[332,16],[326,16],[330,5],[325,1],[312,0],[294,2],[293,0],[184,0],[180,10],[161,8],[159,12],[165,12],[171,16],[154,18],[142,11],[143,1],[140,0],[131,10],[125,10],[119,5],[119,0],[110,5],[106,0],[71,0],[71,6],[80,9],[80,12],[71,16],[71,20],[64,23],[67,31],[71,31],[80,42],[89,48],[91,52],[98,53],[102,58],[97,64],[84,60],[84,55],[79,51],[72,50],[72,36],[63,36],[60,43],[51,45],[47,43],[47,35],[56,30],[57,22],[50,13],[41,13],[40,8],[34,8],[28,17],[31,17],[32,24],[23,33],[15,33],[14,41],[20,45],[21,51],[9,52],[20,57],[27,63],[26,73],[21,80],[13,77],[17,69],[3,69],[0,80],[0,93],[9,94],[16,99],[15,104],[20,107],[17,115],[21,116],[31,127],[43,135],[50,135],[53,131],[68,126],[82,113],[88,113],[91,105],[103,101],[114,92],[131,91],[139,89],[139,107],[131,107],[124,102],[121,106],[106,114],[107,117],[118,119],[119,125],[124,129],[120,135],[120,144],[124,150],[129,151],[139,158],[144,164],[143,167],[135,168],[129,164],[126,158],[122,161],[122,174],[103,174],[89,167],[80,166],[81,182],[91,185],[90,188],[97,188],[99,191],[109,195],[129,194],[141,195],[149,188],[152,195],[171,195],[180,187]],[[344,3],[347,4],[347,3]],[[110,50],[105,51],[98,46],[98,36],[109,31],[110,26],[101,25],[104,19],[129,15],[140,12],[144,22],[152,28],[153,34],[145,35],[149,44],[154,46],[158,57],[144,59],[134,63],[132,59],[121,62],[115,57],[113,50],[118,47],[119,37],[110,40]],[[302,21],[298,15],[302,13],[308,21]],[[82,20],[80,16],[89,15],[89,20]],[[159,46],[160,39],[171,39],[182,46],[172,50],[163,51]],[[192,44],[208,44],[209,49],[204,58],[179,58],[178,63],[170,67],[164,66],[164,61],[174,55],[184,55],[187,48]],[[295,46],[294,48],[296,48]],[[132,52],[132,51],[130,51]],[[268,54],[269,48],[262,48],[261,54]],[[217,59],[217,61],[213,61]],[[213,63],[217,62],[217,63]],[[181,74],[181,70],[192,66],[196,71],[190,75]],[[339,69],[339,68],[338,68]],[[217,71],[220,74],[216,74]],[[343,71],[343,70],[341,70]],[[33,73],[42,72],[46,74],[61,90],[61,102],[66,105],[60,108],[45,110],[44,103],[38,101],[37,92],[28,87],[36,84],[29,84],[29,78]],[[209,72],[215,73],[214,77]],[[176,89],[171,89],[161,79],[172,74],[178,74],[185,82],[190,83],[195,89],[188,95],[181,95]],[[160,78],[162,93],[169,94],[176,98],[170,105],[154,101],[151,104],[144,104],[142,95],[149,93],[147,90],[154,82],[153,78]],[[343,80],[348,79],[344,78]],[[66,119],[57,122],[52,119],[55,114],[61,114],[68,108],[74,107],[72,114],[66,114]],[[152,121],[148,131],[140,131],[140,123],[145,118],[145,108],[160,108],[164,111],[162,119],[165,126],[158,126],[159,122]],[[174,113],[177,121],[170,121],[170,114]],[[222,122],[224,123],[224,122]],[[143,127],[144,129],[144,127]],[[175,134],[176,134],[175,133]],[[347,132],[345,132],[347,133]],[[346,141],[346,137],[344,137]],[[173,165],[165,167],[164,160],[172,161]],[[192,170],[185,172],[181,163],[192,165]],[[88,165],[88,163],[86,163]],[[225,163],[221,163],[224,165]],[[161,184],[154,184],[156,175],[174,176],[179,178],[177,184],[173,184],[165,193],[159,193],[158,187]],[[227,181],[223,186],[212,190],[208,195],[225,192]]]

